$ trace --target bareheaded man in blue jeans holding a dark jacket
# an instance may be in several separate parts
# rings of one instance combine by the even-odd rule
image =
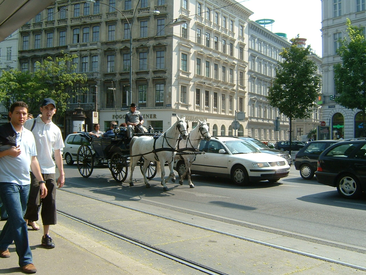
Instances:
[[[47,189],[36,158],[36,142],[23,127],[27,113],[25,102],[14,102],[10,106],[10,122],[0,126],[0,197],[8,213],[0,234],[0,257],[10,257],[8,246],[14,241],[19,266],[26,273],[35,273],[27,223],[23,219],[30,190],[29,168],[37,180],[41,198],[46,197]]]

